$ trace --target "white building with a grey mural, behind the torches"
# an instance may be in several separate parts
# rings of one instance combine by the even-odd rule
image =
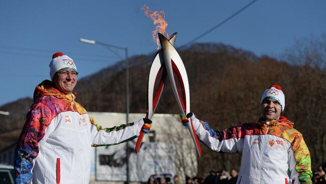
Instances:
[[[96,122],[102,127],[113,127],[114,125],[120,125],[125,123],[126,115],[125,113],[112,113],[112,112],[89,112],[91,116],[94,117]],[[136,121],[141,117],[144,117],[145,114],[142,113],[130,113],[129,114],[129,121]],[[91,173],[91,183],[123,183],[123,179],[120,181],[118,180],[116,175],[113,175],[113,173],[119,173],[119,174],[125,174],[120,175],[120,178],[126,179],[126,167],[119,167],[119,168],[113,168],[106,166],[106,172],[107,172],[107,180],[105,179],[105,172],[103,173],[103,166],[100,165],[100,153],[99,152],[105,152],[105,149],[107,149],[108,154],[113,154],[115,150],[121,151],[124,147],[127,147],[126,144],[128,144],[129,149],[132,149],[129,156],[129,180],[133,180],[133,174],[139,175],[141,173],[147,173],[145,178],[148,178],[149,175],[153,174],[162,174],[159,168],[155,168],[157,165],[165,165],[165,164],[172,164],[175,168],[173,173],[166,173],[171,174],[174,176],[175,174],[178,174],[182,178],[185,177],[185,175],[188,176],[196,176],[197,175],[197,155],[196,155],[196,149],[195,145],[193,143],[193,140],[190,136],[190,133],[188,131],[187,127],[184,127],[180,121],[180,117],[177,114],[157,114],[155,113],[151,119],[153,121],[152,127],[150,129],[150,132],[148,135],[145,134],[142,142],[143,145],[141,146],[138,154],[135,154],[133,149],[135,146],[135,142],[137,138],[135,138],[132,141],[128,141],[125,143],[121,143],[118,145],[108,146],[108,147],[94,147],[94,155],[92,160],[92,173]],[[156,156],[156,158],[152,160],[147,160],[147,164],[151,164],[152,168],[147,166],[145,168],[144,165],[145,161],[143,161],[142,166],[136,166],[135,163],[137,160],[139,161],[140,157],[144,156],[143,153],[147,151],[148,149],[144,150],[142,149],[144,145],[147,145],[147,147],[154,147],[152,150],[159,150],[159,151],[152,151],[151,156]],[[168,147],[168,149],[166,149]],[[168,151],[164,151],[163,149]],[[110,150],[111,149],[111,150]],[[170,151],[169,151],[170,150]],[[111,151],[111,152],[110,152]],[[126,151],[123,153],[125,154]],[[148,152],[148,151],[147,151]],[[146,153],[147,153],[146,152]],[[170,157],[168,159],[173,160],[173,162],[169,162],[168,159],[165,159],[164,152],[172,152],[173,154],[169,154],[170,156],[173,155],[174,157]],[[124,154],[122,153],[123,156]],[[144,156],[146,158],[151,156]],[[102,158],[103,159],[103,158]],[[158,161],[161,161],[160,163],[155,163]],[[151,161],[153,163],[151,163]],[[114,163],[111,163],[111,165]],[[120,165],[121,166],[121,165]],[[135,169],[133,169],[135,168]],[[162,166],[164,168],[164,166]],[[161,169],[162,169],[161,168]],[[105,169],[104,169],[105,170]],[[133,170],[133,171],[132,171]],[[139,170],[139,173],[134,172],[134,170]],[[148,170],[151,170],[152,172],[149,172]],[[172,169],[173,170],[173,169]],[[102,172],[102,173],[100,173]],[[115,178],[113,178],[115,176]],[[139,178],[139,177],[138,177]],[[140,177],[141,178],[141,177]],[[112,182],[112,180],[114,182]],[[111,181],[111,182],[109,182]],[[138,180],[139,181],[139,180]],[[144,181],[144,180],[142,180]]]

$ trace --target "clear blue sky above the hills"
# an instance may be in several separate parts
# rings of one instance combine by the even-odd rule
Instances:
[[[117,60],[94,39],[128,47],[129,55],[156,49],[152,20],[140,8],[165,11],[170,34],[183,45],[217,25],[251,0],[2,0],[0,2],[0,105],[33,95],[49,79],[52,54],[72,57],[79,78]],[[257,0],[197,42],[222,42],[257,55],[277,56],[294,39],[326,32],[325,0]],[[124,52],[117,50],[124,57]],[[78,84],[77,84],[78,85]],[[0,109],[1,110],[1,109]]]

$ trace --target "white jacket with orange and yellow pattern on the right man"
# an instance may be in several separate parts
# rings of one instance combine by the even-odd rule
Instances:
[[[237,183],[312,183],[309,150],[293,122],[244,123],[222,131],[191,117],[198,138],[214,151],[242,152]]]

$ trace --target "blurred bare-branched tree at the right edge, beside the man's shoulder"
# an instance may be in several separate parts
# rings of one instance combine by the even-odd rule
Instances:
[[[282,58],[294,68],[288,113],[304,135],[313,167],[317,167],[326,160],[326,34],[296,40]]]

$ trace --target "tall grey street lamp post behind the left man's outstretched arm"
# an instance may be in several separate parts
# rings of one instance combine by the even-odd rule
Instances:
[[[129,66],[128,66],[128,47],[120,47],[116,46],[113,44],[108,44],[100,41],[95,41],[95,40],[89,40],[85,38],[80,38],[79,41],[84,42],[84,43],[89,43],[89,44],[100,44],[109,50],[111,50],[115,55],[117,55],[119,58],[122,59],[122,57],[113,49],[111,48],[117,48],[125,51],[125,69],[126,69],[126,123],[129,122]],[[127,181],[126,183],[129,183],[129,144],[128,141],[127,143]]]

